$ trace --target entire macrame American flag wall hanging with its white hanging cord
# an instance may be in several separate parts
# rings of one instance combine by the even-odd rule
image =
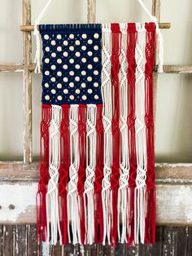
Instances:
[[[157,20],[41,25],[49,4],[34,30],[36,72],[41,39],[43,50],[38,239],[155,243]]]

